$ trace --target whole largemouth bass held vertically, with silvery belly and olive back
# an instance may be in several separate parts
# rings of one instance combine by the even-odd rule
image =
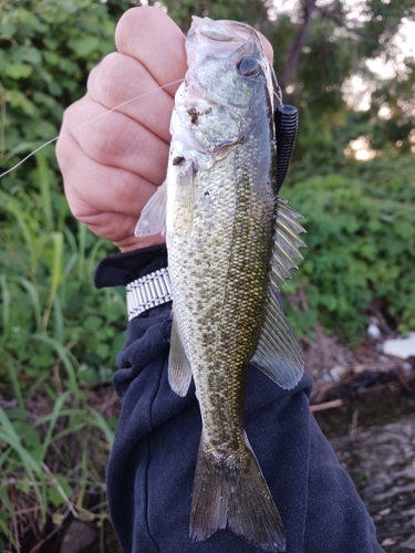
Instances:
[[[303,374],[278,296],[304,246],[299,213],[277,196],[273,112],[281,97],[259,35],[246,24],[194,18],[186,52],[166,182],[136,233],[163,230],[167,206],[168,377],[185,396],[193,376],[203,419],[190,536],[205,540],[229,525],[264,551],[286,551],[243,428],[249,363],[287,389]]]

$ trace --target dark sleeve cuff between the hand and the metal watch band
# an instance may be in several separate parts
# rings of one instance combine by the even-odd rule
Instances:
[[[165,244],[152,246],[125,253],[110,253],[97,264],[94,284],[97,289],[126,286],[135,279],[164,267],[167,267],[167,249]]]

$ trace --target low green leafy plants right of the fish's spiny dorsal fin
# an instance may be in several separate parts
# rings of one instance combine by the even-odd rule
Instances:
[[[357,344],[365,309],[374,299],[383,301],[385,314],[401,332],[413,328],[412,158],[380,158],[352,165],[343,175],[304,179],[291,187],[289,197],[308,230],[300,271],[283,290],[297,296],[288,311],[300,334],[319,321],[329,333]]]

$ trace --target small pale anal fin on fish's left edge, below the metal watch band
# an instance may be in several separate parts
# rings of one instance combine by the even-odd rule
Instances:
[[[170,336],[170,354],[168,357],[168,383],[173,392],[185,397],[191,380],[191,367],[183,347],[177,324],[173,319]]]

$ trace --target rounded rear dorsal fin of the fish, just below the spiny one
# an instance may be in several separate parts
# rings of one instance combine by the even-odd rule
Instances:
[[[300,345],[272,288],[251,365],[260,368],[284,389],[294,388],[304,373]]]

